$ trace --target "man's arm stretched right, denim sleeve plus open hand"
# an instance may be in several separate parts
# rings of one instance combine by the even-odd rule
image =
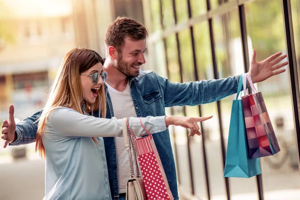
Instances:
[[[285,71],[283,66],[288,62],[282,62],[286,54],[277,52],[261,62],[256,61],[256,51],[250,62],[248,73],[253,83],[261,82],[273,75]],[[158,76],[158,81],[163,88],[163,98],[166,107],[197,105],[220,100],[228,95],[236,93],[239,75],[222,79],[201,80],[194,82],[170,82],[166,78]]]

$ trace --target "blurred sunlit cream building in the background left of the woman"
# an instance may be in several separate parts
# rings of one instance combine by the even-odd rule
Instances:
[[[9,103],[16,117],[40,109],[64,54],[75,46],[69,0],[38,3],[34,0],[4,0],[11,41],[0,49],[0,118],[6,118]]]

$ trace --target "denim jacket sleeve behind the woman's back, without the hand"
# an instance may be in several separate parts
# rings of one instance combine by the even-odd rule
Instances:
[[[39,118],[42,110],[34,113],[32,116],[24,118],[16,124],[15,134],[16,139],[9,145],[20,145],[32,143],[36,139],[37,119]]]

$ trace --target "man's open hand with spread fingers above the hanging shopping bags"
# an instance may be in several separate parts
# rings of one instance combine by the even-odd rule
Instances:
[[[285,69],[282,69],[281,67],[288,64],[288,62],[283,62],[280,64],[277,64],[281,60],[283,60],[286,57],[286,54],[281,55],[281,52],[277,52],[265,60],[261,62],[256,61],[256,51],[253,49],[252,52],[252,58],[250,62],[250,68],[249,68],[249,74],[251,76],[252,82],[260,82],[263,81],[273,75],[277,75],[279,73],[282,73],[285,71]],[[281,56],[280,56],[281,55]],[[281,68],[281,69],[280,69]],[[279,70],[277,70],[279,69]]]

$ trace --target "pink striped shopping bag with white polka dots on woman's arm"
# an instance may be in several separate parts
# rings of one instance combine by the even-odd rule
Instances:
[[[174,199],[167,183],[153,137],[142,124],[141,118],[140,123],[148,133],[148,136],[136,139],[135,135],[129,130],[134,140],[147,198],[153,200]]]

